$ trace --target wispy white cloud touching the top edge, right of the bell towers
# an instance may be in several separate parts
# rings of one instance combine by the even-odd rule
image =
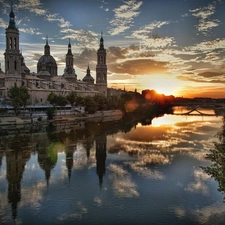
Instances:
[[[110,35],[117,35],[128,30],[133,25],[133,20],[140,12],[138,11],[142,5],[142,1],[137,0],[124,0],[124,4],[115,8],[114,18],[109,22],[111,29]]]

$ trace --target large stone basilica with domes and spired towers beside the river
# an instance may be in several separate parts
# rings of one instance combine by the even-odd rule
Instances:
[[[48,38],[46,38],[44,54],[37,63],[37,73],[30,73],[20,52],[19,30],[15,24],[12,7],[5,34],[5,72],[0,67],[0,98],[7,99],[8,90],[15,84],[18,87],[27,87],[31,99],[30,104],[47,104],[47,97],[51,92],[63,96],[72,91],[80,96],[96,94],[107,96],[106,50],[102,35],[97,51],[96,81],[91,76],[89,66],[86,76],[81,81],[77,80],[70,41],[65,57],[66,67],[62,75],[58,75],[57,62],[51,55]]]

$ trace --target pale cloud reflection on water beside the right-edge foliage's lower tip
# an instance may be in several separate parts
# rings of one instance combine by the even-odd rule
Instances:
[[[195,181],[191,182],[185,190],[207,195],[208,186],[205,184],[205,182],[210,179],[210,176],[207,175],[203,170],[198,169],[194,171],[194,179]]]

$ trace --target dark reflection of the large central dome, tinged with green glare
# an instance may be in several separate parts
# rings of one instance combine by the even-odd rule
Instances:
[[[38,152],[38,163],[45,171],[45,179],[47,186],[51,177],[51,170],[55,167],[58,159],[58,154],[53,149],[54,143]]]

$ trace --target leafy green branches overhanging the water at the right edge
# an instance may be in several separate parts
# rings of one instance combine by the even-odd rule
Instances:
[[[211,160],[211,165],[201,167],[208,175],[218,181],[218,191],[225,193],[225,116],[223,125],[218,132],[219,142],[214,143],[214,149],[210,150],[207,158]]]

